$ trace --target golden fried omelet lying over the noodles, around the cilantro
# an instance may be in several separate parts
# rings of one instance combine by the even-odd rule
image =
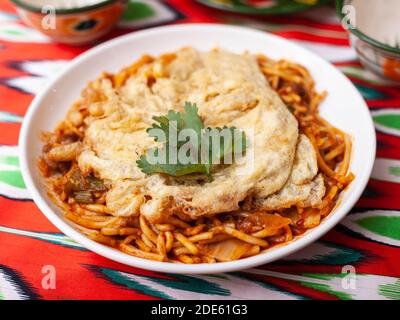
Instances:
[[[106,99],[90,106],[100,111],[85,119],[78,165],[110,186],[106,201],[114,215],[141,213],[159,223],[173,214],[197,219],[236,211],[244,203],[278,209],[321,201],[315,151],[254,55],[185,48],[168,63],[158,58],[143,65],[119,88],[107,78],[94,86]],[[245,131],[251,138],[246,161],[215,166],[212,181],[143,173],[136,160],[158,146],[146,133],[153,117],[182,111],[186,101],[197,104],[206,126]]]

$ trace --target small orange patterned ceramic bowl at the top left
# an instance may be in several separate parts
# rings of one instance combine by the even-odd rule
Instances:
[[[63,7],[34,5],[32,0],[11,1],[25,23],[57,42],[76,45],[105,35],[118,22],[126,6],[126,0],[89,1],[86,5],[84,1],[74,1],[75,6]]]

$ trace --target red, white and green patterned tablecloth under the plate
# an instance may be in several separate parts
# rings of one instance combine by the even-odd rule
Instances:
[[[161,274],[84,249],[32,202],[19,170],[17,141],[34,95],[89,47],[51,43],[24,25],[10,2],[0,0],[0,300],[400,299],[399,87],[360,66],[333,8],[254,19],[192,1],[131,0],[107,38],[190,22],[276,33],[330,60],[354,82],[371,109],[378,138],[374,171],[362,199],[334,230],[306,249],[243,272]],[[345,277],[348,272],[355,275]]]

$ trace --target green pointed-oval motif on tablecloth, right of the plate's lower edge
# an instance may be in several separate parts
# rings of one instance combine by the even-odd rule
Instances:
[[[356,220],[355,223],[378,235],[400,240],[400,217],[371,216]]]

